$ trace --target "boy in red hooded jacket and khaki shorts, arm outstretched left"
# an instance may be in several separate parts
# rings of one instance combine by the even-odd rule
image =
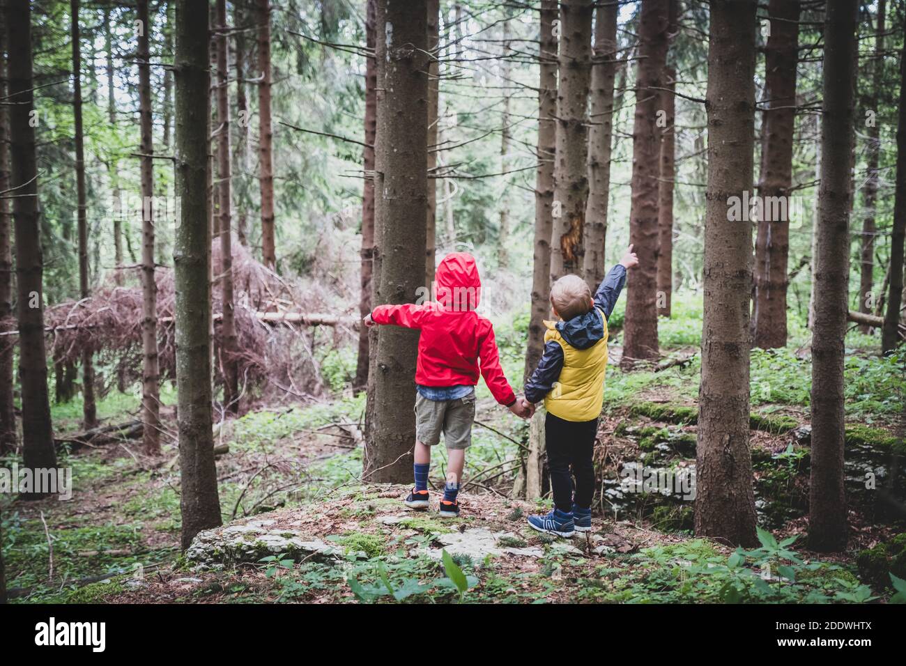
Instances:
[[[481,297],[481,279],[475,257],[466,252],[445,256],[435,278],[436,301],[425,304],[379,305],[364,323],[394,324],[421,331],[415,383],[415,487],[406,506],[428,508],[428,470],[431,447],[444,433],[448,452],[447,485],[440,500],[440,516],[459,515],[457,494],[466,449],[472,443],[475,420],[475,385],[485,378],[497,402],[525,418],[529,410],[506,381],[494,340],[494,327],[475,312]]]

